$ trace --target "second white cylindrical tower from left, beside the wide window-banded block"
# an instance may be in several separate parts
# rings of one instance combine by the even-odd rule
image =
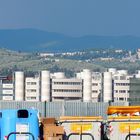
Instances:
[[[41,101],[50,101],[50,72],[41,71]]]

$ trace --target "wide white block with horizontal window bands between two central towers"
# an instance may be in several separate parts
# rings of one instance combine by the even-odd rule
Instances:
[[[81,101],[82,80],[80,79],[52,79],[51,80],[52,101]]]

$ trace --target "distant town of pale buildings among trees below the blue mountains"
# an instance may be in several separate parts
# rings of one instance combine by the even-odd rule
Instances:
[[[140,49],[137,49],[136,51],[126,51],[122,49],[92,49],[65,53],[40,53],[39,55],[43,58],[61,57],[67,59],[84,60],[86,62],[93,62],[95,60],[109,61],[115,59],[119,60],[120,62],[135,62],[140,60]]]

